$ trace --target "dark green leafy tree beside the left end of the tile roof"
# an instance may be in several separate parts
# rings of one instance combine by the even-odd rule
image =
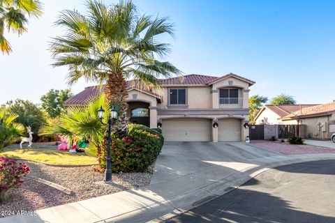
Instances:
[[[51,89],[40,98],[42,102],[41,106],[51,118],[55,118],[59,116],[61,110],[64,109],[63,103],[72,96],[73,93],[71,93],[70,89],[61,91]]]

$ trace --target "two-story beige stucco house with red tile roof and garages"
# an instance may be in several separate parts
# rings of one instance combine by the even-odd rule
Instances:
[[[161,89],[128,82],[128,116],[150,128],[162,126],[166,141],[241,141],[248,135],[249,87],[255,84],[232,73],[223,77],[185,75],[160,79]],[[85,105],[101,93],[91,86],[64,105]],[[218,128],[214,128],[214,123]]]

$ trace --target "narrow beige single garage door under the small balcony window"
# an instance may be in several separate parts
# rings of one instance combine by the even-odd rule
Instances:
[[[219,120],[218,141],[241,141],[241,120],[236,118]]]

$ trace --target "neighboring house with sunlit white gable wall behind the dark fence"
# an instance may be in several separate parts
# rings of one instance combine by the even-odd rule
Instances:
[[[282,121],[281,118],[305,107],[315,105],[265,105],[255,116],[256,125],[297,125],[297,120]]]

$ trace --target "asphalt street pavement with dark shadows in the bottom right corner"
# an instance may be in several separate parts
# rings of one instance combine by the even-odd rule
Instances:
[[[334,185],[335,160],[290,164],[167,222],[335,222]]]

